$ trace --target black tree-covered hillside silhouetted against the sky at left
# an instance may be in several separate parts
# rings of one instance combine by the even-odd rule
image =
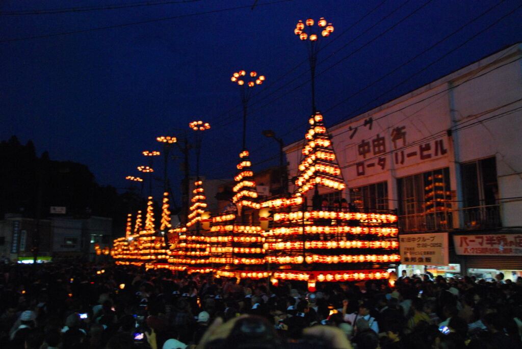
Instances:
[[[110,217],[114,231],[124,232],[127,213],[145,209],[146,201],[130,188],[118,194],[99,185],[84,164],[51,160],[47,151],[38,157],[31,140],[22,145],[13,136],[0,142],[0,218],[19,213],[44,219],[51,206],[66,207],[76,218]]]

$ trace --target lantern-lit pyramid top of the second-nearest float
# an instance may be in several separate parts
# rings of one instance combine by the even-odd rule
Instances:
[[[252,172],[248,150],[243,150],[239,154],[238,174],[234,177],[236,185],[233,191],[236,193],[232,201],[238,205],[259,209],[261,205],[257,203],[257,189]]]

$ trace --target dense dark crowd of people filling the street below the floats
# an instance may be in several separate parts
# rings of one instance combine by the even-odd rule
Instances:
[[[522,278],[237,280],[136,266],[0,266],[9,349],[522,348]]]

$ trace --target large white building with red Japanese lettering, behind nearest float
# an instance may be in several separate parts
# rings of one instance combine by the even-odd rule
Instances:
[[[449,233],[435,272],[522,276],[521,58],[509,46],[330,127],[347,190],[320,194],[396,209],[401,234]],[[285,148],[290,178],[302,145]],[[432,261],[410,257],[402,268]]]

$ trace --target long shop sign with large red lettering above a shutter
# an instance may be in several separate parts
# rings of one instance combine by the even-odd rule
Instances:
[[[522,234],[454,235],[457,255],[522,256]]]

